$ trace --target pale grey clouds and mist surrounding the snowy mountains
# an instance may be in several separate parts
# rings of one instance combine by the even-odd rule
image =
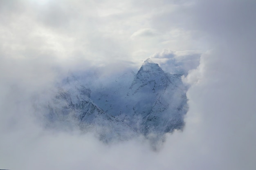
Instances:
[[[0,168],[255,170],[255,0],[0,0]],[[189,71],[183,132],[134,139],[45,131],[31,99],[67,70]],[[173,69],[175,68],[175,69]]]

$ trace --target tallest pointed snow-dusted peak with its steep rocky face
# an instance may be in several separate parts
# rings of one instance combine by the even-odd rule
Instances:
[[[132,109],[128,121],[138,126],[139,120],[137,128],[145,135],[164,134],[184,126],[187,99],[181,75],[164,73],[150,59],[144,62],[135,75],[127,101],[128,108]]]

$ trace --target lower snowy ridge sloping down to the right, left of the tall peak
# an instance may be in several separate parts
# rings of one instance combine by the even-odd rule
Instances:
[[[58,89],[57,95],[48,104],[52,124],[61,123],[77,126],[84,132],[96,132],[99,139],[105,142],[127,140],[137,134],[130,126],[99,108],[89,98],[90,89],[81,85],[73,75],[67,77]]]

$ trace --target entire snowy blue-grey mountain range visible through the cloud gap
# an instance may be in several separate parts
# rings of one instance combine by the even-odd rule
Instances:
[[[181,76],[165,73],[150,59],[137,73],[123,73],[106,84],[85,84],[70,74],[46,106],[49,125],[78,126],[106,142],[137,135],[162,139],[184,126],[187,88]]]

